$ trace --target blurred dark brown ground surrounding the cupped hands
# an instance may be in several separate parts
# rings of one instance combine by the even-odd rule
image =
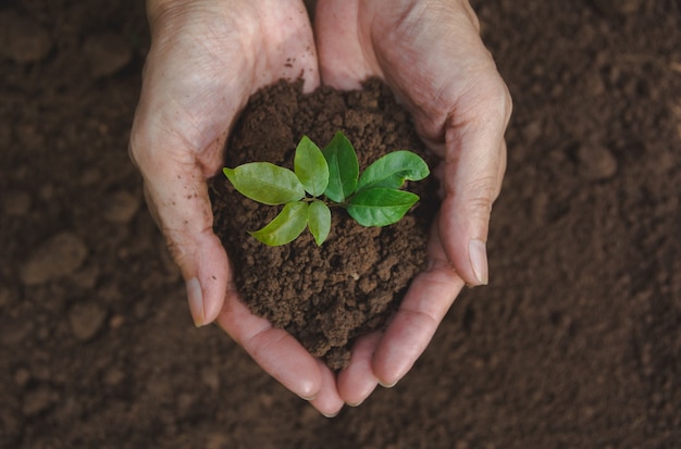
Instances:
[[[680,447],[681,3],[473,7],[515,100],[491,285],[327,420],[191,323],[126,151],[143,2],[0,2],[0,447]]]

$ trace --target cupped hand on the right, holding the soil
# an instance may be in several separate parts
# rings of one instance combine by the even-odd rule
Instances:
[[[429,266],[385,333],[361,338],[338,375],[340,397],[357,404],[411,369],[465,284],[487,284],[485,242],[511,100],[467,0],[319,0],[314,29],[322,82],[354,89],[384,79],[443,159]]]

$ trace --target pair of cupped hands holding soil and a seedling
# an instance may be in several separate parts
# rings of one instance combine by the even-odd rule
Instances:
[[[412,366],[461,288],[487,283],[485,241],[506,166],[511,101],[465,0],[150,0],[152,43],[131,135],[149,208],[187,282],[197,325],[216,323],[273,377],[333,416]],[[315,33],[313,34],[312,29]],[[387,83],[443,162],[429,266],[385,332],[334,374],[239,300],[212,232],[207,178],[249,96],[280,78]],[[227,148],[226,151],[230,151]]]

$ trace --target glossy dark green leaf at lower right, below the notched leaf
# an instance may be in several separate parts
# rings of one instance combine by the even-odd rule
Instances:
[[[409,191],[376,187],[354,196],[347,211],[362,226],[387,226],[405,216],[418,200],[419,196]]]

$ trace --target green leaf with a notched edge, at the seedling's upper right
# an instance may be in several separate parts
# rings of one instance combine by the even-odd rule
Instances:
[[[421,180],[430,173],[428,164],[418,154],[406,150],[394,151],[364,170],[357,183],[357,191],[373,187],[398,189],[406,179]]]

